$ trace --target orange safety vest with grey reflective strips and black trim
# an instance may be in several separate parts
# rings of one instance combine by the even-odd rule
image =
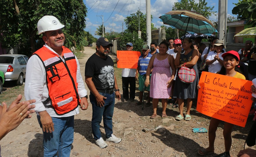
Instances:
[[[46,71],[49,98],[43,103],[46,106],[46,103],[51,101],[53,109],[59,115],[71,112],[80,105],[75,55],[67,47],[62,46],[62,49],[65,63],[59,55],[45,46],[33,54],[40,58]]]

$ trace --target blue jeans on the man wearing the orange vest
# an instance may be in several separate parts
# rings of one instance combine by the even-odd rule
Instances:
[[[52,133],[44,134],[44,156],[45,157],[69,157],[71,145],[74,139],[74,116],[69,117],[51,117],[54,123]],[[40,116],[37,115],[38,122],[42,128]]]

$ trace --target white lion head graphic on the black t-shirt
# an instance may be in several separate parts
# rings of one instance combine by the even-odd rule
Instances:
[[[108,87],[110,89],[114,88],[115,85],[115,79],[114,79],[114,68],[113,66],[104,66],[100,70],[99,79],[101,81],[102,89],[107,89]]]

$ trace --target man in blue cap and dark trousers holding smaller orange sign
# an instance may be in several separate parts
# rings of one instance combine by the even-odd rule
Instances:
[[[133,43],[126,44],[126,51],[133,50]],[[115,61],[119,61],[118,58],[115,58]],[[127,101],[130,98],[130,101],[135,99],[135,89],[136,89],[136,80],[135,80],[136,69],[122,68],[122,84],[123,84],[123,101]],[[129,84],[130,84],[130,97],[129,97]]]

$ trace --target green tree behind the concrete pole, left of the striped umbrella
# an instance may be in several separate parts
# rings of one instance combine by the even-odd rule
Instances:
[[[152,19],[153,19],[153,16],[151,15],[151,21]],[[146,41],[146,36],[147,36],[146,15],[139,10],[136,13],[131,14],[131,16],[127,16],[125,18],[125,25],[127,28],[127,32],[130,32],[130,33],[138,32],[139,20],[140,20],[141,39]],[[156,28],[154,27],[154,24],[151,23],[151,30],[155,30],[155,29]]]

